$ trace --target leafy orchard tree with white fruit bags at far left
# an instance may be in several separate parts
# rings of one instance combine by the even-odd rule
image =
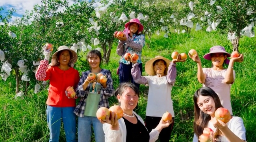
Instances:
[[[65,0],[43,0],[41,5],[35,5],[31,13],[26,12],[26,15],[15,20],[12,25],[5,20],[1,50],[6,56],[4,62],[7,61],[15,71],[16,93],[19,93],[19,87],[24,86],[20,83],[26,82],[26,95],[29,82],[37,82],[34,73],[39,60],[43,58],[42,47],[47,42],[54,47],[74,42],[62,36],[66,33],[61,30],[63,23],[56,25],[58,14],[61,13],[59,9],[67,7],[69,5]]]

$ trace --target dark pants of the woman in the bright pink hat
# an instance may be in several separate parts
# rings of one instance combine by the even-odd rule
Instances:
[[[139,69],[141,70],[141,75],[142,75],[142,64],[139,64]],[[130,63],[129,65],[120,63],[120,66],[119,66],[119,83],[131,82],[132,84],[137,86],[138,89],[139,89],[139,84],[135,83],[134,78],[132,78],[131,70],[132,70],[132,63]],[[138,105],[135,107],[135,109],[138,109]]]

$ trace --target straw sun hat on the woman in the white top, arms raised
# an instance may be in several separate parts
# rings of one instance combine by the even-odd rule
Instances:
[[[167,58],[164,58],[162,56],[156,56],[155,58],[152,58],[150,59],[146,64],[145,64],[145,71],[148,75],[151,75],[151,76],[154,76],[156,75],[156,71],[154,70],[154,67],[153,67],[153,63],[156,61],[156,60],[159,60],[159,59],[162,59],[166,62],[166,68],[165,68],[165,71],[164,71],[164,74],[167,75],[167,71],[168,71],[168,67],[169,67],[169,64],[170,64],[170,60],[168,60]]]

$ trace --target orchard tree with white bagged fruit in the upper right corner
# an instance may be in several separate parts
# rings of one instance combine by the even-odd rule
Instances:
[[[198,0],[200,9],[204,11],[207,31],[218,30],[227,34],[231,40],[233,51],[238,51],[241,35],[254,37],[256,22],[255,0]]]

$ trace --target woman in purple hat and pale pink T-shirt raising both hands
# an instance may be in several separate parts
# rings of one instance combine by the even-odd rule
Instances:
[[[210,48],[210,53],[203,56],[206,60],[211,60],[212,67],[202,68],[201,60],[198,54],[191,56],[193,61],[197,62],[197,79],[204,86],[208,86],[217,93],[221,100],[221,105],[230,111],[233,115],[230,99],[231,85],[235,81],[236,73],[234,71],[234,62],[243,62],[243,54],[237,58],[231,58],[222,46],[213,46]],[[223,64],[228,64],[228,68],[224,69]]]

